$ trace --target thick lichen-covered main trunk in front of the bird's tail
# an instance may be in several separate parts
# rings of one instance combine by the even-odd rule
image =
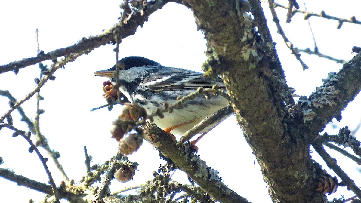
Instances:
[[[275,62],[266,55],[265,50],[273,47],[273,43],[257,40],[254,21],[247,14],[250,10],[247,1],[184,3],[192,8],[207,39],[208,61],[204,68],[207,73],[221,73],[228,93],[234,98],[232,107],[237,122],[261,165],[273,201],[323,202],[323,195],[314,190],[316,181],[311,178],[314,169],[310,141],[297,139],[301,138],[296,130],[300,126],[288,125],[291,120],[285,111],[284,96],[274,88],[284,86],[285,81],[282,71],[273,72]],[[252,1],[251,5],[257,4]],[[262,13],[259,8],[257,11]]]

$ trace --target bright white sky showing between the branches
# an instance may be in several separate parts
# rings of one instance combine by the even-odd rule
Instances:
[[[287,5],[288,1],[278,3]],[[303,3],[299,2],[301,9]],[[39,29],[40,50],[45,53],[57,48],[77,43],[83,36],[97,35],[101,30],[109,29],[118,22],[119,1],[104,1],[93,3],[90,1],[1,1],[0,2],[0,64],[7,64],[14,60],[36,56],[35,30]],[[330,71],[337,72],[341,64],[319,59],[317,56],[302,54],[301,58],[309,66],[303,71],[299,62],[290,54],[282,38],[275,32],[271,21],[268,4],[262,4],[268,17],[273,39],[277,42],[277,51],[282,62],[289,86],[296,88],[296,94],[309,95],[315,87],[322,84],[322,78],[327,77]],[[358,1],[306,1],[308,11],[319,13],[325,10],[326,14],[350,18],[355,15],[359,20]],[[313,48],[313,40],[307,21],[302,14],[296,14],[291,23],[285,22],[286,10],[276,8],[283,29],[295,47]],[[358,15],[358,16],[357,16]],[[196,24],[190,9],[175,3],[167,4],[161,10],[149,17],[143,28],[138,28],[135,35],[130,36],[120,44],[119,59],[126,56],[143,56],[160,62],[165,66],[191,69],[201,72],[201,65],[205,61],[205,40],[200,31],[196,31]],[[316,37],[319,51],[336,58],[349,60],[354,54],[352,46],[360,46],[358,33],[360,25],[344,23],[340,30],[336,29],[337,22],[311,17],[310,22]],[[79,57],[75,62],[69,63],[65,69],[55,73],[56,80],[48,81],[41,89],[45,98],[40,108],[45,113],[40,116],[41,132],[48,140],[49,145],[60,152],[60,163],[75,182],[86,173],[84,165],[83,146],[93,157],[93,164],[104,163],[117,152],[117,142],[110,138],[109,128],[117,118],[120,106],[113,111],[106,108],[90,112],[90,109],[105,104],[102,98],[101,85],[105,78],[93,76],[96,70],[111,68],[115,61],[115,46],[106,45],[95,49],[88,55]],[[44,64],[51,65],[51,61]],[[20,69],[15,75],[13,72],[0,74],[0,89],[8,89],[13,96],[22,99],[35,87],[34,78],[39,77],[38,65]],[[334,122],[343,127],[348,125],[355,128],[360,120],[360,99],[356,98],[342,113],[343,120]],[[22,107],[27,116],[34,119],[36,99],[31,98]],[[0,115],[8,107],[8,99],[0,97]],[[26,125],[20,122],[17,111],[12,113],[14,126],[26,130]],[[326,128],[330,134],[338,132],[339,128]],[[29,143],[21,136],[13,138],[12,131],[0,131],[0,156],[5,163],[1,168],[10,168],[16,174],[22,174],[33,180],[47,183],[48,177],[40,160],[35,153],[28,152]],[[35,136],[34,136],[35,137]],[[34,138],[33,137],[33,138]],[[359,138],[360,139],[360,138]],[[245,142],[240,128],[231,117],[212,130],[205,138],[197,143],[199,155],[206,163],[217,169],[219,176],[232,190],[252,202],[271,202],[266,183],[263,181],[259,165],[253,164],[254,156]],[[361,185],[359,167],[332,150],[326,148],[334,157],[340,157],[338,164],[351,174],[358,185]],[[48,157],[42,150],[43,156]],[[312,154],[316,157],[316,152]],[[130,161],[139,163],[139,171],[132,181],[120,183],[112,181],[112,191],[126,186],[136,186],[152,178],[152,171],[164,164],[158,157],[158,151],[144,142],[139,151],[129,156]],[[318,159],[319,160],[319,159]],[[322,162],[321,162],[322,163]],[[59,185],[62,177],[52,161],[48,166],[53,178]],[[323,168],[328,169],[326,165]],[[329,172],[332,176],[334,172]],[[173,178],[176,181],[187,183],[185,175],[177,171]],[[358,181],[357,181],[358,180]],[[0,178],[0,202],[28,202],[30,198],[36,202],[42,200],[44,195],[26,187],[19,187],[16,183]],[[346,193],[346,189],[339,188],[338,192],[330,198],[345,198],[353,196]],[[64,201],[64,200],[63,200]]]

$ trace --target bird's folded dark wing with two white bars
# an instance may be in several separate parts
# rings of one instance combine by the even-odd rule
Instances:
[[[164,67],[161,71],[149,75],[139,85],[146,86],[152,91],[164,91],[196,90],[198,87],[212,88],[215,84],[218,85],[218,88],[226,88],[221,78],[207,80],[203,77],[203,73]]]

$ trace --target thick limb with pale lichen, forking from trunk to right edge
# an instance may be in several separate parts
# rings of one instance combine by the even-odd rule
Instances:
[[[306,128],[318,133],[334,117],[341,120],[341,111],[361,90],[360,78],[361,54],[358,53],[338,73],[329,73],[308,99],[300,98],[298,105],[302,106]]]

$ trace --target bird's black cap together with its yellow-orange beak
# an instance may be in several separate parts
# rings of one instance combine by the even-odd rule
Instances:
[[[133,67],[140,67],[144,65],[160,65],[158,62],[152,61],[150,59],[140,57],[140,56],[128,56],[121,60],[119,60],[118,68],[119,70],[129,70]],[[116,70],[116,65],[114,65],[111,69],[108,70],[99,70],[94,72],[96,76],[102,77],[112,77],[113,72]]]

